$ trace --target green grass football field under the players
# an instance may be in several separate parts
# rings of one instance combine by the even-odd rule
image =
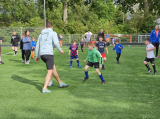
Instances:
[[[53,86],[48,88],[52,93],[42,94],[45,64],[31,60],[25,65],[20,52],[14,57],[8,53],[12,52],[10,47],[2,47],[0,119],[159,119],[160,59],[155,59],[157,75],[147,75],[144,46],[124,46],[120,64],[112,48],[108,47],[106,70],[101,70],[105,85],[94,68],[89,69],[90,79],[82,82],[87,49],[79,51],[82,68],[74,60],[72,69],[68,47],[63,47],[63,55],[56,50],[58,73],[69,87],[59,88],[52,77]]]

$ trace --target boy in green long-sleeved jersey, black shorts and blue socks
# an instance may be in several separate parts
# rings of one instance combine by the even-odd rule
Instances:
[[[86,60],[84,60],[84,62],[87,62],[87,65],[85,66],[84,68],[84,73],[85,73],[85,78],[83,79],[83,82],[86,81],[89,76],[88,76],[88,68],[89,67],[93,67],[95,68],[96,72],[98,73],[101,81],[102,81],[102,84],[105,84],[105,80],[102,76],[102,73],[99,71],[99,65],[100,65],[100,68],[102,68],[102,56],[101,54],[99,53],[99,51],[97,51],[94,47],[93,47],[93,44],[91,41],[87,42],[86,46],[88,47],[88,57]],[[100,59],[100,61],[99,61]]]

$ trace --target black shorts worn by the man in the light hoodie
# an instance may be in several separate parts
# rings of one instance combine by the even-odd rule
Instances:
[[[53,65],[54,65],[53,55],[41,55],[41,59],[46,63],[47,69],[53,69]]]

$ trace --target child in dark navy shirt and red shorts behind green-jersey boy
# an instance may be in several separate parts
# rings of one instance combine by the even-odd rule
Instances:
[[[99,42],[96,43],[96,47],[98,47],[98,51],[101,53],[101,56],[103,58],[103,61],[102,61],[102,70],[105,70],[105,68],[104,68],[104,62],[107,60],[107,58],[106,58],[106,55],[104,53],[104,48],[106,49],[107,54],[108,54],[108,49],[107,49],[106,44],[103,42],[103,37],[102,36],[99,36]]]

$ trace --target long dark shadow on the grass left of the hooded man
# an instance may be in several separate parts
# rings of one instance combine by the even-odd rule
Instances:
[[[19,82],[21,82],[21,83],[26,83],[26,84],[35,86],[39,91],[42,90],[43,84],[36,82],[36,81],[38,81],[38,80],[29,80],[29,79],[20,77],[20,76],[18,76],[18,75],[12,75],[11,78],[12,78],[13,80],[15,80],[15,81],[19,81]],[[41,85],[42,85],[42,86],[41,86]]]

